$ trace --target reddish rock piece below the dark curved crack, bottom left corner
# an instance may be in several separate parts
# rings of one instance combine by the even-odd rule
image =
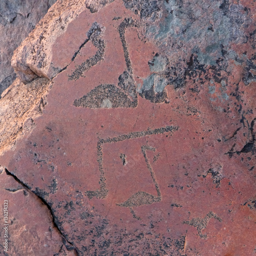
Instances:
[[[75,255],[63,247],[64,238],[54,226],[47,206],[1,166],[0,177],[1,255]],[[4,208],[7,209],[5,219]]]

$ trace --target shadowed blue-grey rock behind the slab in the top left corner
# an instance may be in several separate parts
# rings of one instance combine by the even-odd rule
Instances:
[[[0,3],[0,95],[16,78],[11,67],[13,51],[56,2],[2,0]],[[0,97],[1,98],[1,97]]]

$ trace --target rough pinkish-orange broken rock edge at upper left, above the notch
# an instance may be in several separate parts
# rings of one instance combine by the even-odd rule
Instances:
[[[14,52],[12,67],[18,77],[24,83],[28,83],[38,76],[52,79],[61,70],[65,69],[70,64],[72,56],[76,54],[77,42],[69,42],[69,45],[65,44],[63,47],[59,47],[56,39],[66,32],[68,25],[84,9],[89,8],[94,13],[100,6],[107,3],[108,1],[105,0],[89,1],[87,4],[84,4],[82,0],[60,1],[38,23],[37,28],[23,41],[19,50]],[[82,35],[80,37],[84,40]],[[55,47],[58,47],[61,51],[65,49],[64,51],[67,54],[57,66],[52,63]],[[67,48],[69,48],[68,51],[66,51]]]

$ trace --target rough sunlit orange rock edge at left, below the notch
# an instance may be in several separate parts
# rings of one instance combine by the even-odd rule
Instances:
[[[50,81],[37,78],[24,84],[18,78],[2,94],[0,101],[0,155],[15,147],[16,140],[31,132],[34,119],[47,104]]]

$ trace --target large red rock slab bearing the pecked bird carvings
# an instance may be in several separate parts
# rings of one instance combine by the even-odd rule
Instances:
[[[111,2],[58,1],[15,51],[51,84],[1,165],[71,253],[254,255],[255,5]]]

